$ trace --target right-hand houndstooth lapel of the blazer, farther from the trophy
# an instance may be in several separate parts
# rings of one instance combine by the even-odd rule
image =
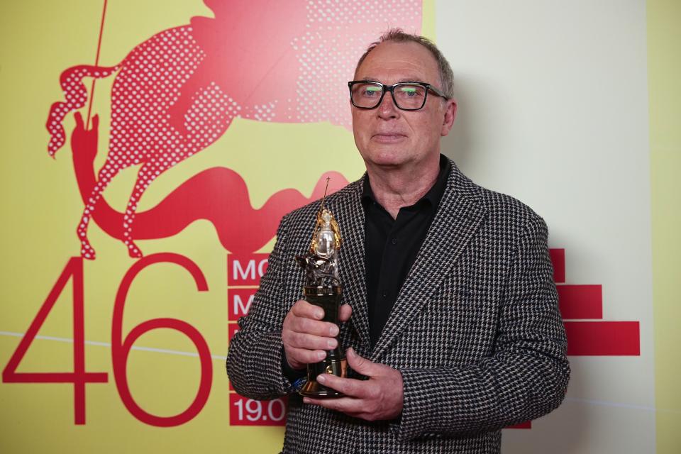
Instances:
[[[451,272],[467,243],[480,228],[486,211],[477,201],[475,188],[452,162],[447,188],[436,216],[372,350],[370,360],[373,362],[380,360],[389,345],[409,328],[411,321],[423,309],[445,275]]]

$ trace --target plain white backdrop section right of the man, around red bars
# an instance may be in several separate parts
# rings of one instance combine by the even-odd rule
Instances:
[[[563,406],[504,453],[653,453],[645,2],[438,1],[436,33],[459,105],[445,153],[546,219],[604,320],[641,322],[640,357],[572,357]]]

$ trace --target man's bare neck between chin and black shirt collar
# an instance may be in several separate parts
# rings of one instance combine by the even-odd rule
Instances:
[[[367,166],[371,191],[393,219],[399,209],[415,204],[426,195],[440,173],[439,155],[414,167]]]

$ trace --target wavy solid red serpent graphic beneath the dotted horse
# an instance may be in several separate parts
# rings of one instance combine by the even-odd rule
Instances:
[[[86,130],[82,116],[76,113],[75,118],[76,127],[71,135],[73,167],[83,203],[87,204],[87,197],[96,186],[94,158],[99,119],[94,116],[92,128]],[[326,177],[331,177],[329,193],[348,184],[343,175],[326,172],[319,177],[311,196],[306,197],[297,189],[282,189],[272,194],[260,209],[253,209],[243,178],[226,167],[211,167],[180,184],[153,208],[138,212],[135,238],[166,238],[181,232],[196,219],[206,219],[215,226],[223,248],[231,253],[253,253],[275,236],[277,223],[284,214],[321,199]],[[102,230],[119,240],[123,240],[123,216],[104,197],[92,214]]]

